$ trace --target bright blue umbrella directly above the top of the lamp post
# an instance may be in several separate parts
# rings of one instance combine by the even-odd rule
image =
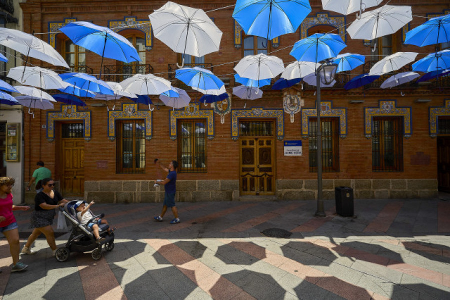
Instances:
[[[339,35],[313,34],[295,42],[289,54],[297,61],[318,63],[336,57],[345,47]]]

